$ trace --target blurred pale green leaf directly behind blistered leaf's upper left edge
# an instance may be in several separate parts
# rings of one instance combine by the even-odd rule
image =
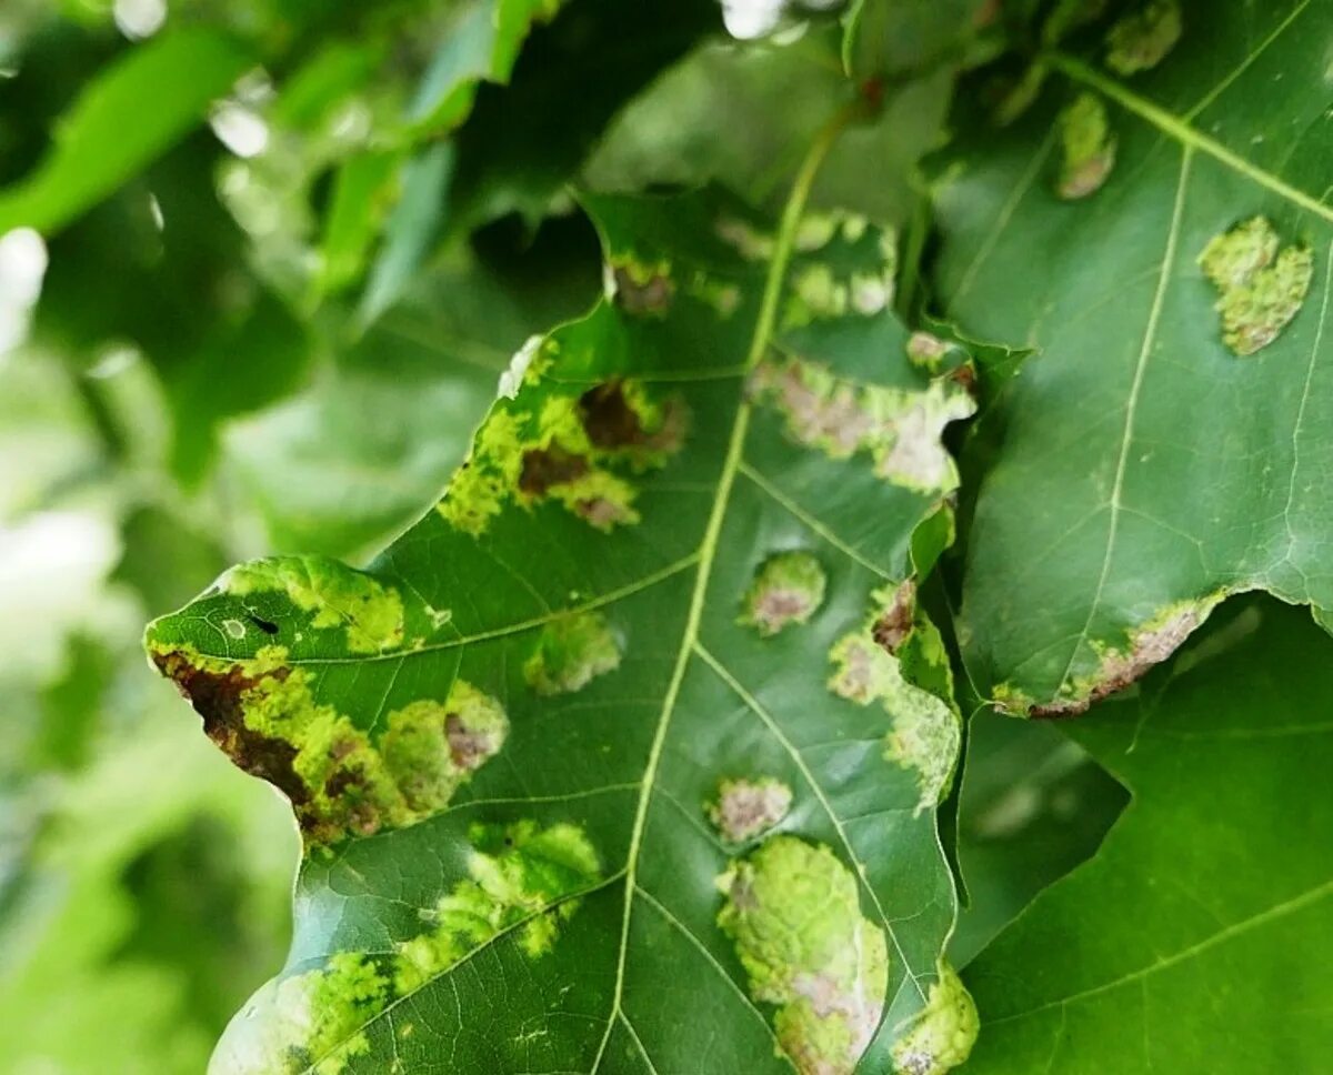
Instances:
[[[511,356],[596,296],[599,264],[564,232],[539,232],[521,262],[531,278],[455,252],[308,390],[228,428],[223,457],[273,549],[363,559],[440,494]]]

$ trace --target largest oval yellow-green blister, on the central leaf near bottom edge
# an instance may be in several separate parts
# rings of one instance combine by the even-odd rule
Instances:
[[[776,1004],[777,1040],[801,1075],[850,1075],[884,1011],[884,931],[861,915],[854,874],[824,846],[765,841],[718,878],[717,924],[750,995]]]

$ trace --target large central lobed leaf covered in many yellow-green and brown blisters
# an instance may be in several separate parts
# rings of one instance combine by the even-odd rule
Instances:
[[[217,1070],[966,1055],[910,550],[973,402],[908,358],[892,236],[802,214],[829,137],[776,234],[589,196],[609,296],[516,357],[436,510],[365,573],[256,561],[149,629],[307,839]]]

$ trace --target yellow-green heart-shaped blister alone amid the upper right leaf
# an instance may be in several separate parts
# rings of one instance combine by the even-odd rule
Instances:
[[[1309,246],[1278,249],[1265,217],[1250,217],[1214,236],[1198,256],[1217,288],[1222,340],[1236,354],[1254,354],[1272,344],[1300,313],[1314,276]]]

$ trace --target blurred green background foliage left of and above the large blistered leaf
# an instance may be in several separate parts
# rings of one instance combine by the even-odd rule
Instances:
[[[781,198],[848,92],[837,7],[0,4],[0,1070],[201,1071],[287,950],[288,807],[145,671],[143,623],[245,557],[364,561],[439,496],[509,357],[600,293],[571,182]],[[953,40],[980,5],[940,7]],[[896,79],[814,204],[920,228],[964,65]],[[969,758],[964,865],[1033,825],[1077,861],[1089,779],[1118,810],[1033,750],[1008,807]]]

